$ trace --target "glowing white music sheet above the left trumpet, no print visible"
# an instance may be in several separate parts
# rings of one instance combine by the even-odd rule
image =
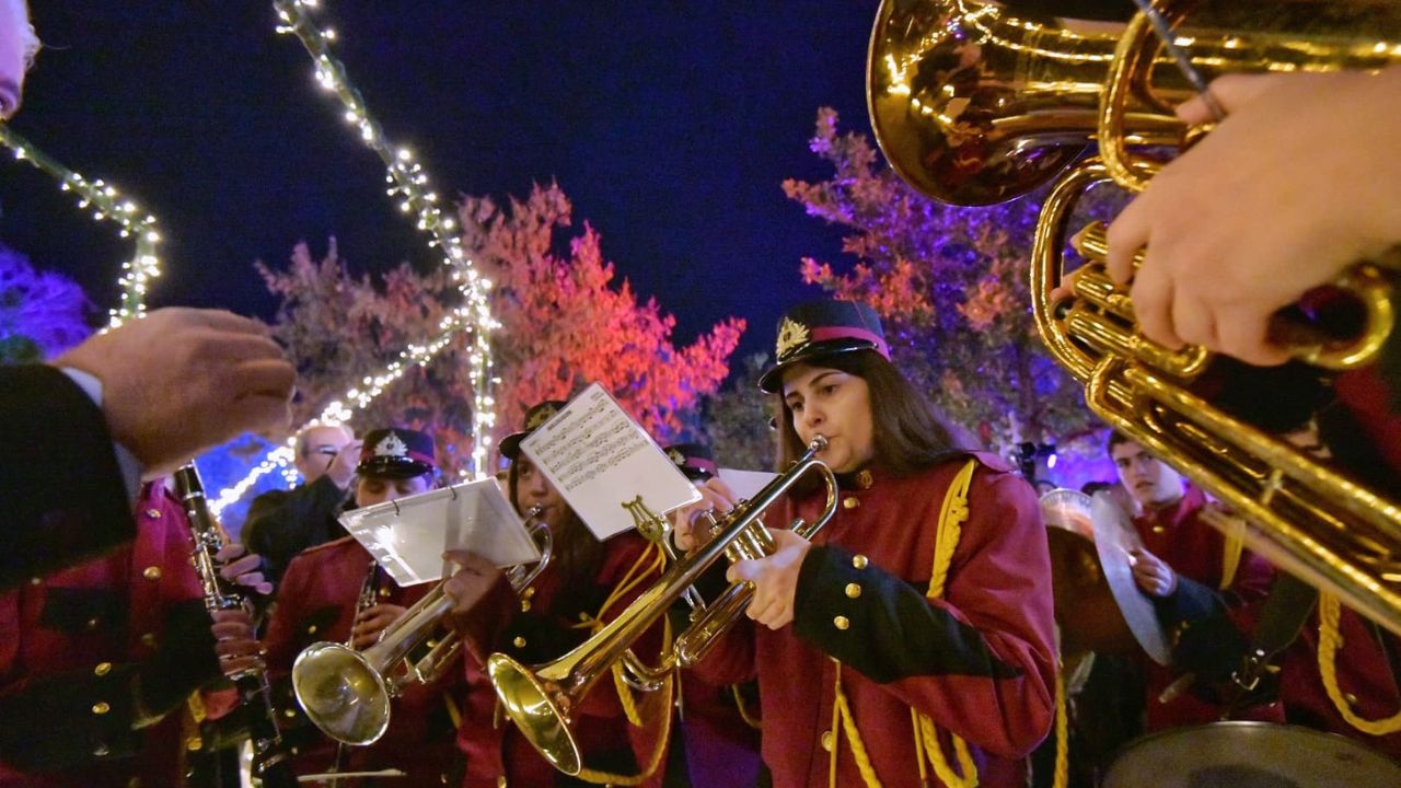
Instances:
[[[492,478],[354,509],[340,515],[340,524],[401,586],[441,580],[444,550],[471,550],[502,568],[539,559]]]

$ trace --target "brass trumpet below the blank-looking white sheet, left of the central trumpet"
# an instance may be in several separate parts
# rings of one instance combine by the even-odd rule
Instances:
[[[538,516],[539,508],[525,513],[531,523],[530,534],[539,545],[539,561],[532,566],[511,566],[506,572],[516,593],[535,582],[555,550],[549,526],[537,520]],[[374,573],[371,569],[371,576]],[[297,655],[291,666],[291,688],[322,733],[350,746],[378,742],[389,728],[392,698],[413,681],[432,684],[457,660],[462,639],[443,625],[453,610],[453,599],[443,592],[443,586],[439,583],[405,610],[384,630],[380,642],[363,652],[347,644],[318,642]],[[410,660],[409,655],[425,644],[429,652]]]

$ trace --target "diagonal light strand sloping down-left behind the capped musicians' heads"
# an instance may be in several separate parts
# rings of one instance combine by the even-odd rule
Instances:
[[[384,390],[395,380],[403,377],[409,369],[420,365],[426,365],[433,360],[444,348],[447,348],[453,338],[471,325],[474,315],[465,310],[458,308],[443,318],[439,324],[439,334],[433,337],[425,345],[409,345],[399,352],[399,356],[389,362],[378,374],[367,374],[360,379],[359,386],[349,388],[342,397],[332,400],[322,411],[321,415],[312,423],[324,423],[328,426],[342,425],[356,414],[370,405]],[[300,432],[300,430],[298,430]],[[273,449],[263,457],[262,463],[254,466],[254,468],[237,484],[226,488],[219,494],[219,498],[210,502],[209,509],[217,517],[223,510],[244,496],[262,477],[270,474],[272,471],[282,470],[283,474],[296,475],[296,470],[291,468],[291,461],[296,458],[296,444],[297,436],[293,435],[287,439],[287,443]],[[289,478],[289,484],[293,480]]]

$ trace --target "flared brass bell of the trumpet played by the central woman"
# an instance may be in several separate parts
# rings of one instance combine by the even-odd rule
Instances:
[[[584,763],[579,742],[565,722],[569,708],[560,701],[567,701],[567,695],[556,683],[537,676],[504,653],[493,653],[486,660],[486,672],[506,714],[539,754],[559,771],[579,774]]]

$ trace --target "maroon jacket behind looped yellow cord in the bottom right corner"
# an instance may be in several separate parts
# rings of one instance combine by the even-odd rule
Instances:
[[[1342,648],[1334,659],[1338,688],[1352,704],[1352,711],[1363,719],[1386,719],[1401,711],[1401,687],[1393,673],[1387,653],[1367,620],[1344,607],[1338,621]],[[1401,641],[1383,631],[1380,635],[1391,653],[1401,652]],[[1401,733],[1372,736],[1348,724],[1328,698],[1318,672],[1318,613],[1309,618],[1303,632],[1279,663],[1279,698],[1285,716],[1296,725],[1307,725],[1332,733],[1351,736],[1401,759]]]

